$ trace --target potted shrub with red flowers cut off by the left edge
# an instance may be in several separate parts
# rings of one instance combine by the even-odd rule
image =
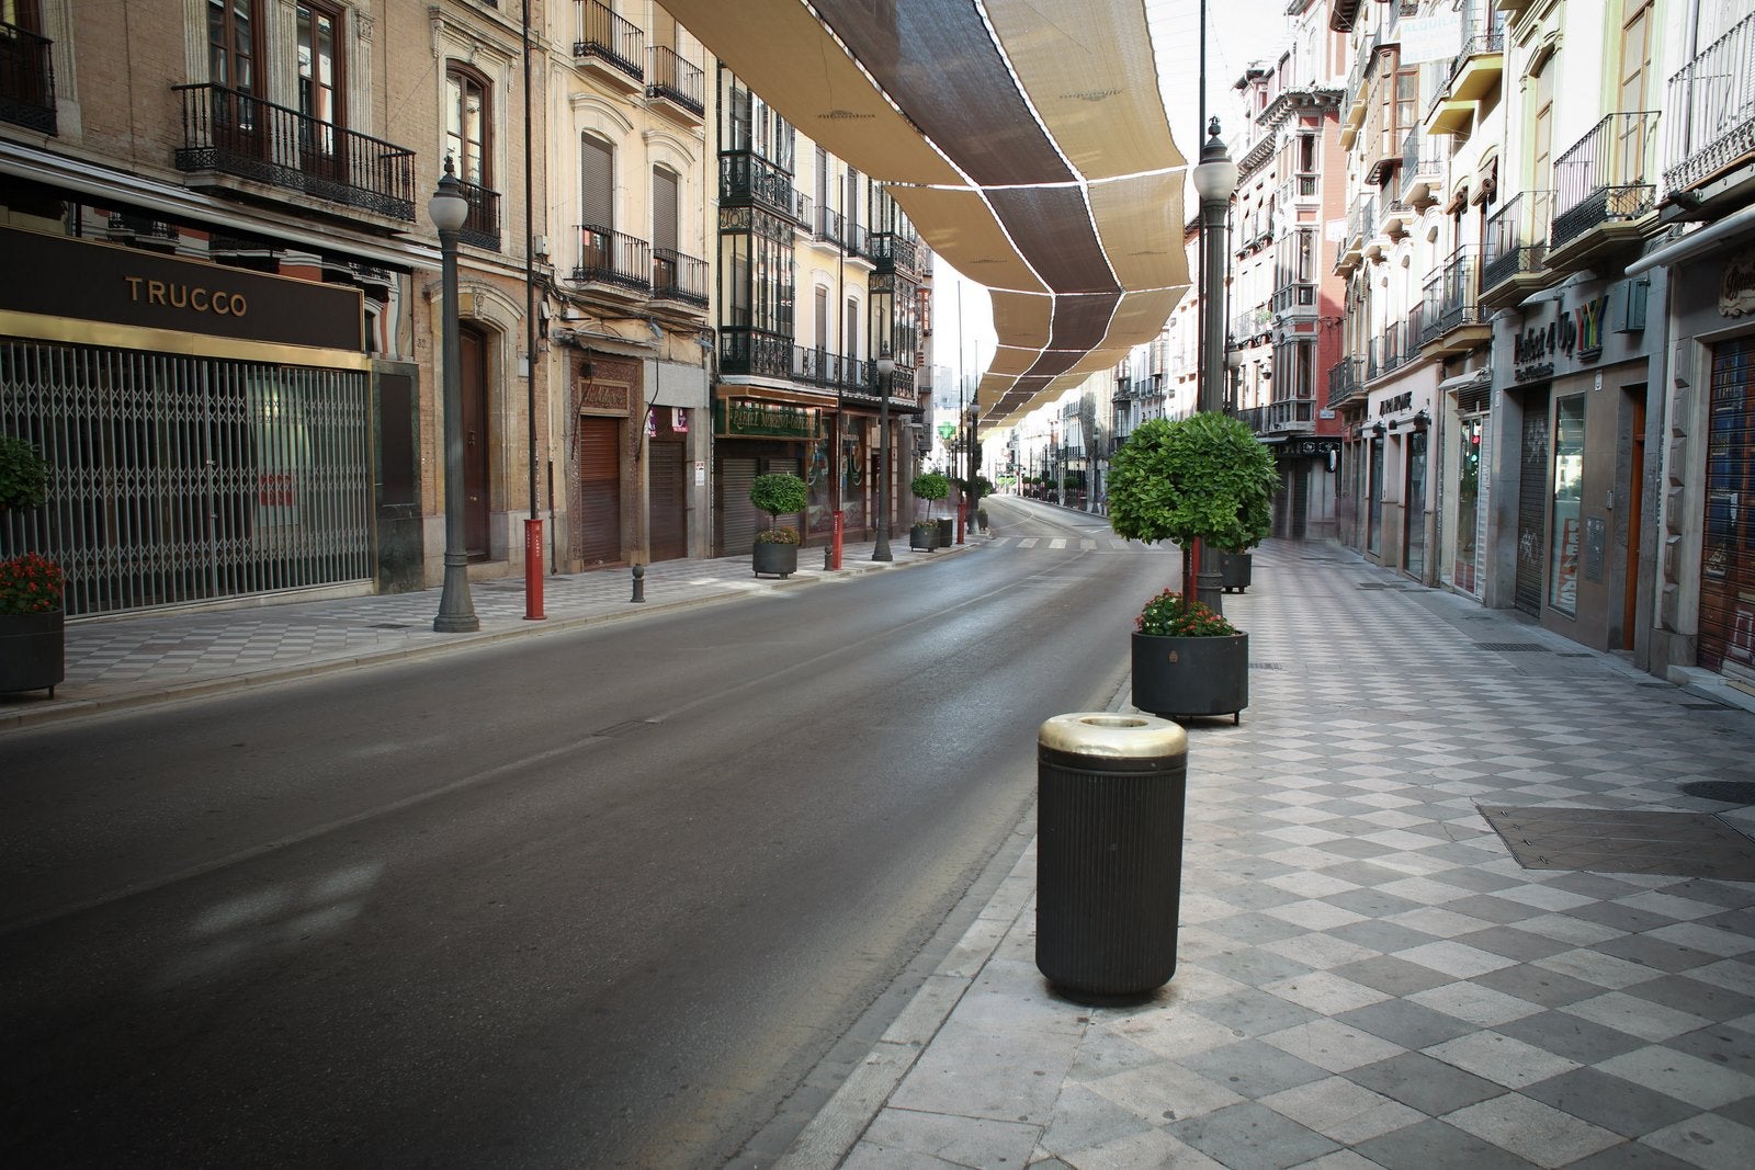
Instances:
[[[0,510],[42,507],[49,465],[21,439],[0,437]],[[35,691],[67,675],[61,567],[40,553],[0,556],[0,691]]]

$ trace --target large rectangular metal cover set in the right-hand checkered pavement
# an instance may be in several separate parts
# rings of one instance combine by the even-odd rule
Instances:
[[[1476,809],[1527,870],[1755,881],[1755,840],[1709,812]]]

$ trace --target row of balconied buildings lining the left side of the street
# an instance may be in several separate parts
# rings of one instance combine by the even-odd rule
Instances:
[[[813,537],[869,531],[881,393],[906,486],[907,219],[660,5],[530,12],[5,7],[0,430],[54,484],[0,551],[60,560],[70,614],[437,584],[448,310],[472,577],[526,517],[555,572],[748,547],[767,467],[811,481]]]

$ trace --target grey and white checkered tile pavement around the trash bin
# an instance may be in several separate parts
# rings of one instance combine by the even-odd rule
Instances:
[[[1250,707],[1190,728],[1171,984],[1057,998],[1027,853],[783,1165],[1755,1165],[1755,884],[1527,870],[1479,812],[1755,835],[1681,791],[1755,781],[1755,716],[1332,547],[1225,612]]]

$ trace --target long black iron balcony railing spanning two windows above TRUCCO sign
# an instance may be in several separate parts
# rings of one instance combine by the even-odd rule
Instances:
[[[225,86],[183,95],[177,170],[237,175],[414,221],[414,151]]]

